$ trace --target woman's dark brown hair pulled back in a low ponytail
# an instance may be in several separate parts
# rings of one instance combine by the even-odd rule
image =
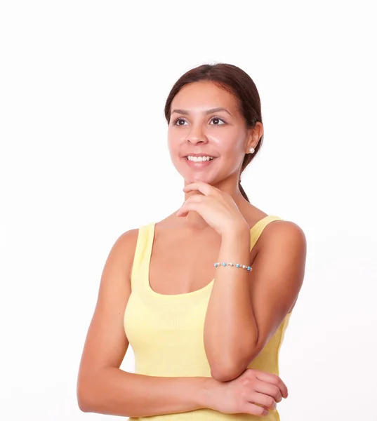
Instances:
[[[173,98],[183,86],[188,83],[199,81],[211,81],[216,83],[220,88],[224,88],[232,93],[232,95],[235,95],[239,100],[239,111],[242,116],[244,116],[247,128],[253,128],[257,121],[263,123],[259,93],[253,79],[239,67],[225,63],[194,67],[194,69],[191,69],[180,76],[180,79],[178,79],[173,88],[171,88],[168,98],[166,99],[164,113],[168,123],[170,122],[171,102],[173,101]],[[249,198],[242,188],[241,174],[246,166],[252,161],[253,157],[258,153],[262,142],[263,135],[260,137],[258,145],[255,147],[255,152],[253,154],[245,154],[244,161],[242,162],[241,173],[239,174],[239,190],[247,201],[249,201]]]

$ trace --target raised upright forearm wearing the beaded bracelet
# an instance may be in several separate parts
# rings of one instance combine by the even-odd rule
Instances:
[[[218,262],[250,264],[250,232],[223,235]],[[246,269],[221,266],[216,269],[204,323],[204,347],[213,377],[240,369],[258,340]],[[242,371],[241,371],[242,372]],[[241,374],[241,372],[239,374]]]

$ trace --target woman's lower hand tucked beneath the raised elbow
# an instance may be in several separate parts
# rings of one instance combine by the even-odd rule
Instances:
[[[268,415],[268,410],[288,397],[283,380],[272,373],[246,368],[244,373],[230,382],[216,382],[206,404],[208,408],[225,414]],[[256,405],[257,404],[257,405]]]

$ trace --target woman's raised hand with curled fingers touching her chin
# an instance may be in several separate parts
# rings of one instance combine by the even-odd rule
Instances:
[[[183,188],[186,193],[194,190],[202,194],[192,194],[180,207],[177,216],[186,216],[194,210],[220,235],[234,230],[249,231],[249,224],[230,194],[202,181],[192,182]]]

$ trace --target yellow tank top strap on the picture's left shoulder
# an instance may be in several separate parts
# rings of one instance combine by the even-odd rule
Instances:
[[[131,272],[131,290],[137,285],[141,286],[147,274],[154,235],[154,222],[139,227],[138,240],[136,241],[135,255]]]

